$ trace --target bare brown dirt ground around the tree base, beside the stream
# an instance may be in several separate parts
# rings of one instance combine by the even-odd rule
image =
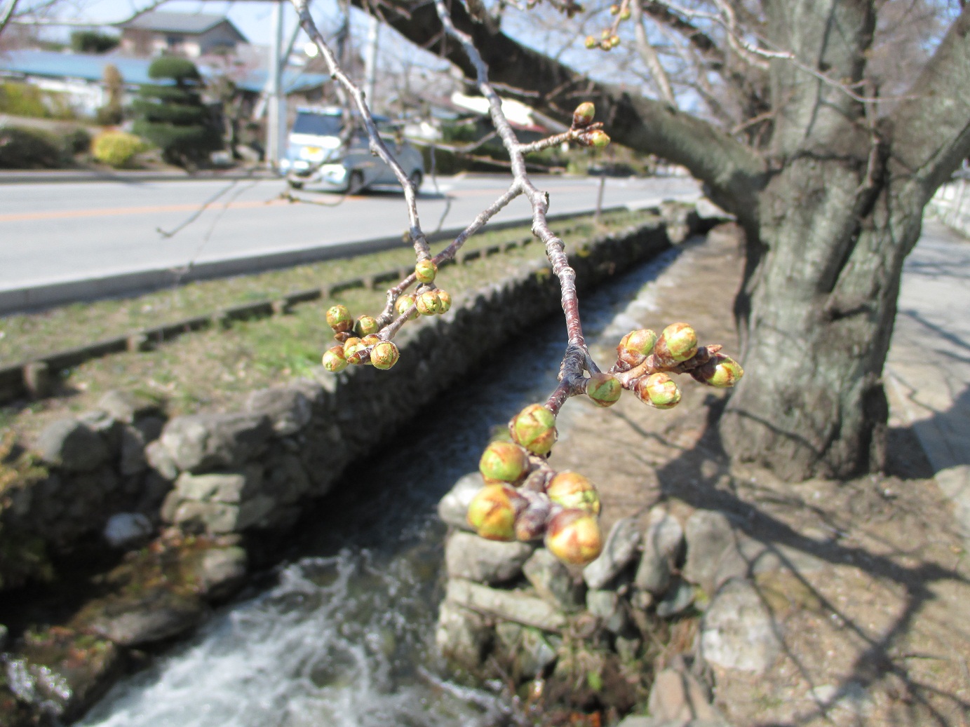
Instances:
[[[657,330],[683,320],[701,342],[736,352],[731,300],[741,263],[731,235],[688,245],[621,316],[626,330],[630,317]],[[608,332],[606,345],[623,332]],[[681,517],[720,509],[775,553],[751,570],[781,654],[762,674],[711,675],[728,721],[970,724],[970,557],[913,431],[893,412],[888,474],[786,484],[728,467],[710,427],[723,397],[692,383],[667,412],[632,396],[610,409],[570,402],[554,464],[598,483],[606,528],[662,501]],[[695,630],[685,624],[684,633]],[[690,641],[661,660],[694,648]]]

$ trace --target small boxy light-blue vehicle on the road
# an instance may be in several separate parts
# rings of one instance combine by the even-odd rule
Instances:
[[[424,178],[421,153],[395,133],[387,119],[375,118],[380,138],[404,170],[414,188]],[[355,129],[346,146],[341,143],[342,111],[333,107],[300,109],[288,138],[280,172],[294,189],[313,184],[355,194],[374,184],[398,184],[390,166],[371,153],[367,132]]]

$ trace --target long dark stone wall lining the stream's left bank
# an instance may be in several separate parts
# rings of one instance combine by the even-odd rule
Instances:
[[[668,227],[682,238],[706,225],[674,206],[659,222],[588,242],[570,251],[580,286],[663,251]],[[444,316],[405,327],[401,361],[390,371],[321,368],[313,378],[251,393],[235,412],[166,419],[157,402],[110,393],[97,410],[42,432],[35,449],[49,475],[5,492],[0,533],[59,552],[98,533],[125,547],[163,523],[213,536],[284,528],[349,462],[508,337],[558,310],[559,299],[548,262],[536,260],[459,298]]]

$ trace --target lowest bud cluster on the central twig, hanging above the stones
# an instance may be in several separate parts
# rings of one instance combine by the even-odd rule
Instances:
[[[556,418],[531,404],[509,422],[512,441],[492,442],[478,469],[485,487],[469,503],[468,521],[489,540],[532,541],[560,560],[585,565],[602,550],[599,493],[576,472],[556,472],[546,456],[556,441]]]

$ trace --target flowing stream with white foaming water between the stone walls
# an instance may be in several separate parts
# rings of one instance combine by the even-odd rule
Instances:
[[[650,307],[644,286],[677,254],[587,296],[588,340],[608,331],[606,345],[615,346],[637,326],[625,311]],[[495,692],[440,676],[445,526],[436,503],[477,467],[492,427],[552,391],[564,348],[554,317],[483,355],[466,384],[344,474],[294,532],[299,554],[277,567],[271,585],[250,589],[190,641],[116,684],[81,727],[506,723],[510,706]]]

